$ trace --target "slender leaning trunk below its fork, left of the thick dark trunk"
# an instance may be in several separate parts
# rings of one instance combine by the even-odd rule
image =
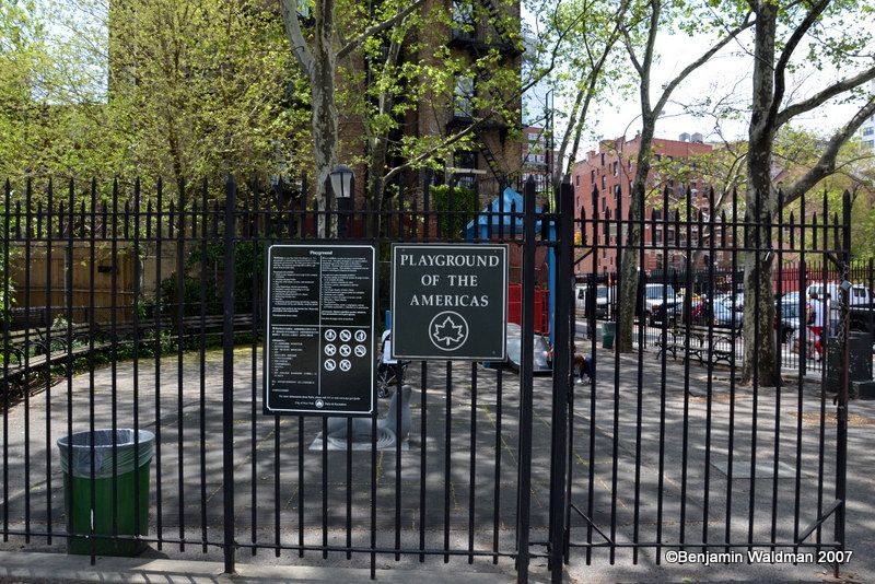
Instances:
[[[641,243],[641,219],[644,213],[643,201],[650,174],[650,157],[653,133],[656,128],[655,116],[644,116],[641,127],[641,143],[638,150],[638,167],[629,197],[629,222],[626,225],[626,246],[620,260],[619,316],[617,319],[617,351],[631,353],[634,339],[635,304],[639,288],[639,245]],[[622,188],[622,187],[620,187]],[[617,217],[621,220],[622,217]],[[644,317],[644,307],[641,307]]]

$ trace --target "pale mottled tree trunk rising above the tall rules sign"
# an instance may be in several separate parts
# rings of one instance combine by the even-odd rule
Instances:
[[[334,50],[334,0],[316,2],[313,34],[313,152],[316,171],[317,234],[319,237],[337,235],[337,201],[331,194],[329,179],[337,164],[338,113],[335,101],[335,71],[337,56]],[[329,220],[330,217],[330,220]]]

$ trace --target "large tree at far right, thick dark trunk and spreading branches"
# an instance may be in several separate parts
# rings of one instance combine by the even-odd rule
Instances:
[[[798,3],[774,0],[751,1],[756,16],[754,28],[754,87],[748,128],[747,209],[752,218],[766,224],[780,212],[777,189],[772,184],[774,141],[779,129],[793,118],[812,112],[836,97],[848,97],[871,79],[875,79],[875,58],[866,51],[872,32],[871,4],[855,1],[818,0]],[[807,44],[808,50],[801,50]],[[813,95],[793,101],[788,87],[790,74],[803,65],[829,66],[840,78]],[[790,203],[835,171],[841,145],[875,113],[875,96],[864,96],[855,115],[839,128],[821,149],[817,162],[783,189]],[[761,386],[773,386],[780,369],[775,358],[771,302],[773,254],[769,230],[756,230],[761,253],[745,254],[745,294],[758,294],[759,314],[754,303],[745,302],[745,352],[742,377]],[[754,342],[758,340],[758,342]],[[757,372],[757,378],[754,373]]]

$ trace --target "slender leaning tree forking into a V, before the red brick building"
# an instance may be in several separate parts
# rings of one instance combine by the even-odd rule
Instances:
[[[707,15],[701,15],[703,13],[697,12],[697,9],[708,9]],[[643,202],[646,197],[648,177],[651,171],[656,121],[678,85],[690,73],[704,65],[718,51],[752,25],[746,11],[730,10],[725,13],[719,13],[710,8],[710,4],[702,7],[682,1],[665,4],[661,0],[641,2],[634,7],[632,14],[634,16],[631,21],[633,25],[623,27],[623,39],[629,59],[639,78],[641,137],[635,157],[635,175],[632,179],[629,221],[626,225],[628,233],[620,264],[620,306],[619,320],[617,323],[617,350],[620,352],[632,351],[635,302],[639,287],[638,246],[641,242],[640,221],[644,212]],[[642,23],[643,30],[637,26],[638,22]],[[687,32],[687,34],[691,34],[693,30],[698,32],[719,31],[720,36],[716,43],[675,75],[662,89],[656,101],[653,102],[651,98],[651,73],[655,57],[656,36],[669,23]],[[639,44],[643,44],[643,47],[639,47]]]

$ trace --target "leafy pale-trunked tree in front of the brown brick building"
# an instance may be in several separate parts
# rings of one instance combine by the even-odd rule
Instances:
[[[326,179],[337,162],[343,133],[339,100],[355,104],[352,110],[365,128],[368,188],[372,205],[380,208],[390,180],[409,168],[440,165],[454,150],[470,148],[487,121],[506,122],[511,138],[516,138],[522,94],[552,70],[569,27],[576,24],[576,20],[570,19],[565,27],[557,28],[551,43],[539,44],[544,50],[537,65],[521,79],[520,69],[509,66],[495,47],[478,49],[475,58],[460,58],[448,50],[443,38],[435,43],[443,26],[458,25],[438,3],[393,0],[370,11],[354,0],[342,4],[336,0],[316,0],[312,21],[299,13],[293,0],[281,0],[280,4],[288,40],[307,80],[313,104],[316,200],[319,210],[328,211],[336,210],[336,201]],[[513,2],[462,1],[453,5],[467,5],[475,21],[488,22],[497,32],[503,31],[505,38],[500,40],[520,48],[520,17]],[[553,3],[552,11],[557,10],[559,3]],[[423,55],[418,55],[420,50],[428,51],[433,60],[422,58]],[[417,56],[419,59],[415,60]],[[345,61],[349,61],[346,68]],[[361,74],[363,67],[369,67],[370,77]],[[433,108],[448,105],[458,77],[477,80],[476,94],[470,96],[470,124],[453,131],[439,129],[424,135],[402,130],[404,114],[418,104]],[[339,80],[342,82],[338,83]],[[323,215],[318,227],[323,234],[335,231],[324,221],[326,215],[336,217]]]

